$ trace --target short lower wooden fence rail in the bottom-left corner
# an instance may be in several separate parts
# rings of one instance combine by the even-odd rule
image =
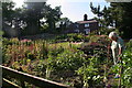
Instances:
[[[6,78],[2,79],[2,87],[3,88],[21,88],[20,86],[11,82],[10,80],[8,80]]]

